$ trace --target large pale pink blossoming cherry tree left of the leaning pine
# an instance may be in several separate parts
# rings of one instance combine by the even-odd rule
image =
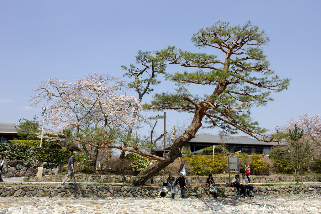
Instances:
[[[129,142],[128,148],[121,146],[128,128],[137,128],[141,119],[145,120],[140,100],[126,95],[124,85],[125,81],[107,73],[89,74],[70,83],[49,79],[38,84],[30,101],[32,105],[48,106],[46,122],[61,132],[73,130],[71,139],[81,143],[88,156],[86,145],[93,146],[93,163],[100,148],[117,148],[158,159],[140,151],[137,141]],[[134,113],[137,116],[133,117]]]

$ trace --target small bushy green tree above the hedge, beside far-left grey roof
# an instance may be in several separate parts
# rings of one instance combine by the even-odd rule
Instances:
[[[19,124],[16,127],[19,140],[39,140],[36,136],[36,133],[39,132],[41,124],[37,120],[36,115],[33,117],[33,120],[26,120],[24,118],[19,119]]]

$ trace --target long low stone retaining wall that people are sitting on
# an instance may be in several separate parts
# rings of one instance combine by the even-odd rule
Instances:
[[[234,187],[217,187],[219,196],[236,196]],[[180,197],[176,187],[175,198]],[[321,193],[320,184],[256,186],[255,195]],[[15,197],[168,197],[169,187],[124,186],[124,185],[0,185],[0,196]],[[186,197],[210,197],[208,188],[187,187]]]

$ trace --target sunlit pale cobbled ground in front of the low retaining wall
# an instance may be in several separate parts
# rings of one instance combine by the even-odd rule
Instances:
[[[321,213],[321,195],[225,198],[0,198],[0,214],[18,213]]]

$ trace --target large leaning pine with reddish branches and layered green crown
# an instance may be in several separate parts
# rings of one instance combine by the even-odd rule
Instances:
[[[194,115],[185,133],[179,136],[172,149],[161,159],[139,173],[132,184],[144,184],[148,178],[181,157],[181,148],[195,137],[195,133],[208,122],[229,133],[240,130],[259,141],[267,131],[250,117],[251,107],[265,106],[272,91],[287,88],[289,79],[280,79],[269,69],[263,46],[269,42],[264,30],[247,22],[244,26],[230,26],[218,21],[213,26],[200,29],[192,37],[195,46],[211,48],[215,55],[191,53],[175,47],[156,52],[164,65],[177,64],[188,71],[165,77],[178,86],[175,93],[156,94],[152,101],[154,110],[175,109]],[[207,49],[209,51],[209,49]],[[197,92],[188,91],[197,85]]]

